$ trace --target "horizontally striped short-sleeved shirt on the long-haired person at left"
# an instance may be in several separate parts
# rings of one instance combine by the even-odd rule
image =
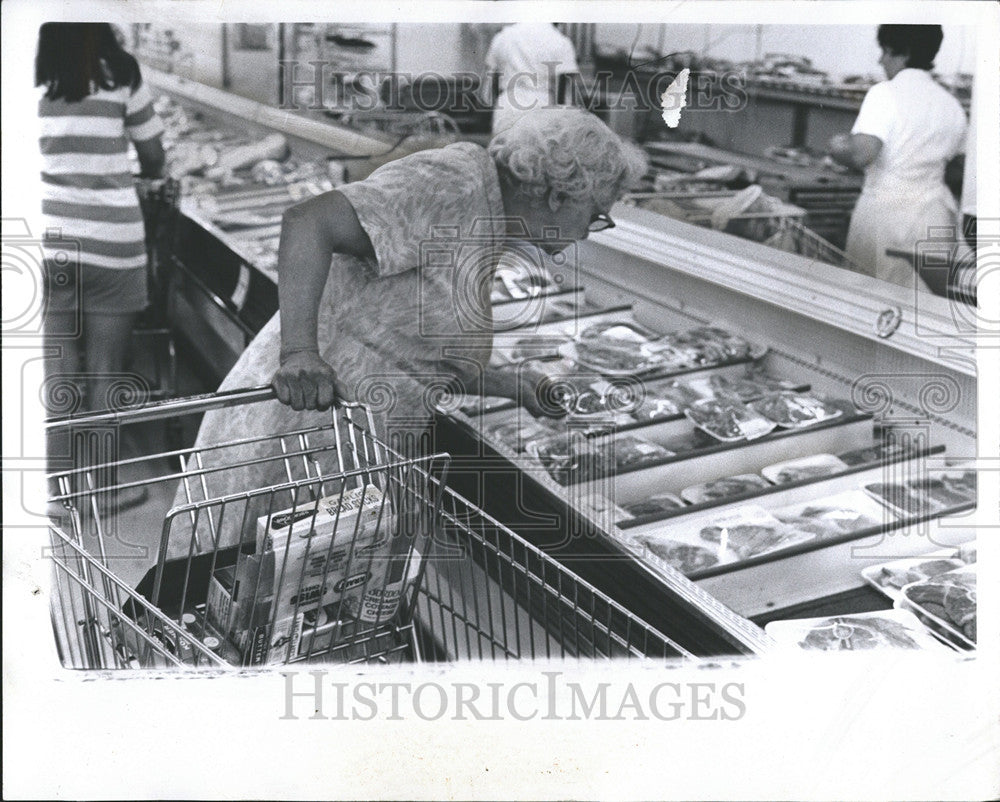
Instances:
[[[129,141],[163,133],[145,84],[99,89],[77,103],[38,102],[41,122],[42,213],[60,243],[79,248],[82,267],[146,264],[145,229],[129,161]]]

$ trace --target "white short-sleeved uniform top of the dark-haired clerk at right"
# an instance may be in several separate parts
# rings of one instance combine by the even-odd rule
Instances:
[[[965,146],[965,112],[926,70],[900,70],[868,90],[852,134],[882,140],[865,170],[865,191],[940,184],[944,166]]]

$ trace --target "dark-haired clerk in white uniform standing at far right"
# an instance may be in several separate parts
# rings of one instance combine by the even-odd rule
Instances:
[[[830,140],[838,161],[864,170],[865,182],[851,217],[847,255],[877,278],[927,289],[912,253],[931,227],[954,226],[958,206],[945,186],[948,161],[965,144],[965,112],[931,77],[943,38],[940,25],[881,25],[879,63],[888,80],[865,95],[850,135]]]

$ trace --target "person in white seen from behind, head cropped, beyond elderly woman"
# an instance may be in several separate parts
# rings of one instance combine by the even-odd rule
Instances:
[[[568,82],[580,72],[573,43],[554,25],[535,22],[508,25],[493,37],[486,69],[497,79],[494,134],[527,111],[566,101]]]

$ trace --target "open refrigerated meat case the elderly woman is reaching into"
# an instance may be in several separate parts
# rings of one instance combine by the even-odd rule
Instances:
[[[773,644],[761,627],[774,620],[888,609],[892,602],[866,585],[862,569],[972,539],[963,521],[974,498],[892,512],[863,488],[920,482],[974,460],[974,309],[642,209],[620,204],[612,217],[613,231],[575,246],[563,268],[549,264],[557,283],[577,288],[552,297],[562,304],[567,296],[580,299],[585,307],[568,321],[543,324],[525,305],[544,309],[544,299],[495,307],[498,320],[514,323],[498,333],[495,360],[516,361],[532,347],[536,356],[565,354],[567,337],[602,321],[659,334],[716,326],[757,350],[674,371],[674,379],[704,384],[713,375],[731,381],[764,371],[833,400],[841,414],[734,443],[699,438],[679,411],[641,424],[619,418],[614,442],[638,436],[676,453],[650,448],[651,464],[567,477],[546,471],[538,449],[525,451],[512,436],[537,435],[525,410],[513,403],[480,414],[449,408],[438,422],[438,445],[456,457],[452,477],[460,492],[696,653],[765,651]],[[574,425],[592,434],[592,422],[566,427]],[[831,474],[762,482],[768,486],[622,520],[623,506],[651,495],[676,496],[703,482],[759,477],[776,463],[879,446],[882,453]],[[689,576],[643,546],[644,536],[677,533],[687,546],[712,546],[699,533],[733,514],[745,517],[748,505],[788,515],[810,505],[815,513],[828,501],[864,517],[773,552],[687,566]]]

